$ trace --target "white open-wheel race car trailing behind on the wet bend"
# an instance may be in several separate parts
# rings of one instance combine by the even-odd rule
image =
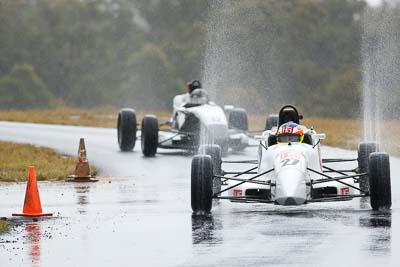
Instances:
[[[168,125],[168,130],[159,127]],[[134,109],[124,108],[118,114],[118,144],[121,151],[135,147],[138,124]],[[204,89],[196,89],[190,100],[175,108],[168,122],[159,124],[155,115],[145,115],[140,124],[144,156],[154,156],[157,148],[197,151],[200,144],[217,144],[224,152],[229,148],[242,150],[248,146],[248,117],[242,108],[221,108],[209,101]]]

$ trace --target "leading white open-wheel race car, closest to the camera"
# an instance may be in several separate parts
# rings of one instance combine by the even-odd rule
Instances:
[[[279,112],[278,127],[288,121],[299,124],[300,118],[294,106],[286,105]],[[302,142],[279,142],[278,127],[257,137],[257,160],[223,162],[216,145],[204,147],[203,153],[194,156],[191,205],[195,213],[210,212],[213,199],[303,205],[370,197],[374,210],[391,207],[389,155],[378,152],[377,143],[360,143],[357,158],[323,159],[320,142],[325,134],[311,128],[304,132]],[[343,169],[352,161],[357,166]],[[222,163],[254,167],[224,171]]]

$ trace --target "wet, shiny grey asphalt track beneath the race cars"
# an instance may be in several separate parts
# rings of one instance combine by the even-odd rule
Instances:
[[[208,217],[190,208],[191,155],[119,152],[116,130],[0,122],[0,140],[76,154],[85,137],[97,183],[40,182],[53,218],[17,220],[0,237],[0,266],[398,266],[400,160],[391,159],[393,207],[368,202],[300,207],[221,201]],[[329,138],[329,137],[328,137]],[[355,152],[323,148],[326,157]],[[253,158],[247,148],[229,159]],[[32,160],[34,164],[34,160]],[[0,186],[0,216],[22,209],[26,183]]]

